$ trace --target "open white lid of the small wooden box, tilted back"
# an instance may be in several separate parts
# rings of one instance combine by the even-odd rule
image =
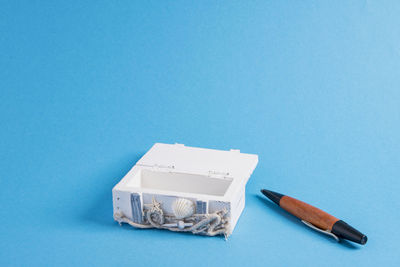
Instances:
[[[234,180],[247,181],[257,163],[257,155],[240,153],[239,150],[223,151],[187,147],[182,144],[156,143],[136,165],[160,171],[230,177]]]

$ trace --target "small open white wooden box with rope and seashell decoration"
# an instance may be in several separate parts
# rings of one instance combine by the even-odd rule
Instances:
[[[113,188],[114,219],[138,228],[229,236],[258,156],[156,143]]]

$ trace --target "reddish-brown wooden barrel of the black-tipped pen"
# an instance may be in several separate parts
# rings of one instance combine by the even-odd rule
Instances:
[[[332,230],[332,226],[339,220],[316,207],[288,196],[283,196],[281,198],[279,206],[296,217],[324,230]]]

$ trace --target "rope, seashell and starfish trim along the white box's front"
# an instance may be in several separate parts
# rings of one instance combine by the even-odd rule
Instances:
[[[153,198],[152,204],[145,205],[142,224],[136,223],[123,213],[115,213],[114,219],[119,223],[128,223],[137,228],[159,228],[177,232],[192,232],[208,236],[228,236],[228,211],[223,209],[212,214],[194,214],[194,203],[188,199],[179,198],[173,203],[174,215],[165,215],[161,203]]]

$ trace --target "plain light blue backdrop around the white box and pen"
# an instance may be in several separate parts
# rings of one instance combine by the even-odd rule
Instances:
[[[2,1],[0,265],[398,266],[400,3],[323,2]],[[113,221],[155,142],[259,155],[227,242]]]

